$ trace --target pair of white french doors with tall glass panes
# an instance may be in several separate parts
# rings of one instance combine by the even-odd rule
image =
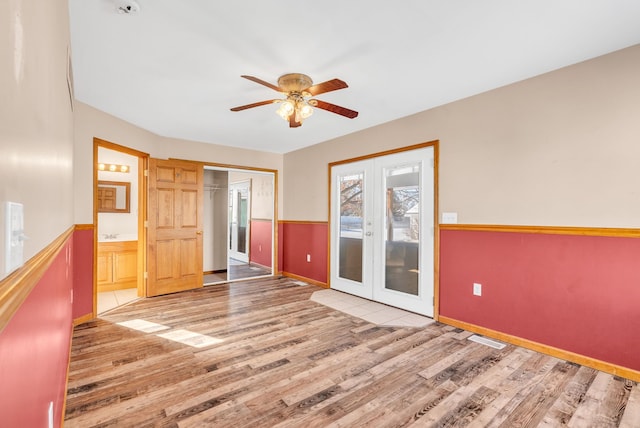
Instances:
[[[331,288],[433,316],[433,146],[331,168]]]

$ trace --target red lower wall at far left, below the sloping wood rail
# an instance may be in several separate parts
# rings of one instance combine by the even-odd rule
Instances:
[[[72,331],[74,240],[62,246],[0,333],[0,425],[61,426]]]

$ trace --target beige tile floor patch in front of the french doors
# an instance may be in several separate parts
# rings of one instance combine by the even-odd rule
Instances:
[[[393,327],[424,327],[433,319],[413,312],[373,302],[336,290],[320,290],[311,295],[311,300],[370,323]]]

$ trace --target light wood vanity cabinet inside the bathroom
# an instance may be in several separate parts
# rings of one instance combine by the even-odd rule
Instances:
[[[137,286],[137,241],[99,242],[97,263],[99,292]]]

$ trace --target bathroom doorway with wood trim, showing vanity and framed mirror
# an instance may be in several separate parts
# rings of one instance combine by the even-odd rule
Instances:
[[[148,155],[94,139],[94,313],[145,295]]]

